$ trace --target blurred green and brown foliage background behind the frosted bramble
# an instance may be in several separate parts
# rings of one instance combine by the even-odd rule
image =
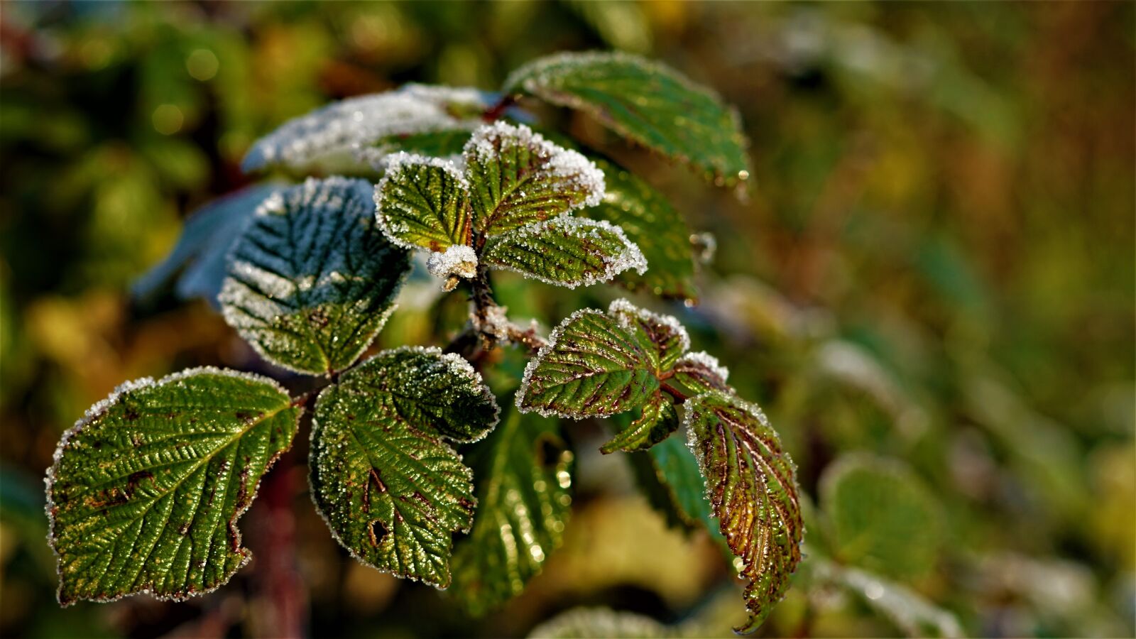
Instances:
[[[551,113],[718,239],[701,305],[653,306],[765,407],[816,506],[760,633],[919,634],[942,613],[966,634],[1131,636],[1134,7],[0,3],[0,634],[513,636],[579,606],[658,625],[590,613],[538,632],[728,633],[744,615],[728,565],[666,528],[590,423],[568,429],[566,546],[483,620],[350,561],[309,505],[306,443],[294,520],[254,505],[258,561],[226,588],[53,600],[42,478],[60,433],[127,379],[264,367],[206,304],[128,296],[186,214],[252,180],[254,139],[332,99],[494,90],[541,55],[623,49],[715,88],[752,141],[743,202]],[[496,284],[545,327],[618,294]],[[384,346],[461,327],[463,298],[432,306],[435,289],[411,281]],[[264,550],[273,528],[294,561]]]

